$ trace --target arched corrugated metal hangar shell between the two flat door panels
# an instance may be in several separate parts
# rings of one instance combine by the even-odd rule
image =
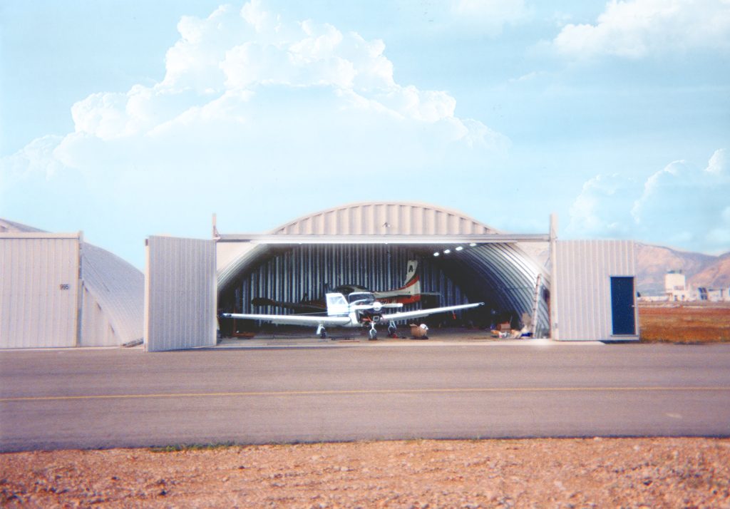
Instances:
[[[469,321],[489,326],[526,313],[548,334],[548,272],[522,247],[548,234],[505,234],[455,210],[415,203],[357,203],[306,215],[269,234],[218,237],[218,307],[253,307],[316,299],[329,288],[357,284],[383,291],[402,286],[418,261],[421,289],[439,305],[485,302]]]

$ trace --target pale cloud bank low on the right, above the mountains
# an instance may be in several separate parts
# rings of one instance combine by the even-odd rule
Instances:
[[[593,177],[573,202],[566,231],[724,253],[730,250],[728,196],[730,160],[723,148],[707,167],[673,161],[642,184],[619,175]]]

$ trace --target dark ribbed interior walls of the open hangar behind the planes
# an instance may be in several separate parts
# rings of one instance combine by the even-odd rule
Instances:
[[[259,245],[247,256],[245,267],[220,283],[219,310],[291,313],[291,309],[266,303],[316,301],[323,299],[326,291],[342,285],[375,291],[399,288],[410,277],[409,262],[415,260],[423,296],[419,302],[407,304],[406,309],[485,302],[483,307],[457,312],[456,320],[448,313],[418,321],[431,327],[480,328],[509,321],[514,328],[520,328],[525,315],[530,319],[536,315],[536,334],[547,334],[547,278],[537,262],[515,245],[474,244]],[[234,335],[251,325],[222,322],[221,334]]]

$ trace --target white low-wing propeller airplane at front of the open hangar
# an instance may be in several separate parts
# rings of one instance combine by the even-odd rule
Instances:
[[[377,340],[375,326],[382,322],[388,323],[388,334],[396,334],[396,321],[420,318],[421,316],[469,309],[484,305],[484,302],[461,304],[455,306],[432,307],[427,310],[401,311],[384,314],[383,309],[403,307],[401,302],[383,303],[375,298],[372,291],[353,291],[347,297],[340,293],[326,294],[327,315],[258,315],[253,313],[220,313],[220,318],[237,318],[243,320],[269,321],[272,324],[310,325],[317,326],[320,337],[327,337],[329,326],[369,328],[368,338]]]

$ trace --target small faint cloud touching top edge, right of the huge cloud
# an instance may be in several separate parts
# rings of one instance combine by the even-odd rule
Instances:
[[[497,35],[505,25],[516,25],[529,17],[523,0],[452,0],[450,14],[456,23]]]

